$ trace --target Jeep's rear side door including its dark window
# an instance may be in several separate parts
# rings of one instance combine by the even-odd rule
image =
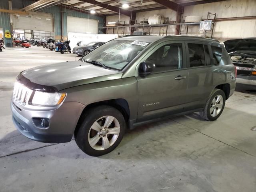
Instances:
[[[193,108],[203,107],[218,82],[217,66],[211,62],[210,45],[186,41],[188,60],[188,102]]]

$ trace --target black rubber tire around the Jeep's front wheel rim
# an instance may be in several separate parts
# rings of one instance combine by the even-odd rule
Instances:
[[[94,124],[94,122],[104,116],[113,116],[114,118],[116,118],[120,125],[120,132],[116,141],[110,147],[106,148],[105,150],[96,150],[92,148],[92,146],[89,144],[88,134],[90,132],[92,124]],[[124,116],[116,108],[105,105],[98,106],[88,110],[85,114],[82,115],[81,119],[82,120],[78,124],[74,136],[76,144],[84,153],[90,156],[101,156],[111,152],[118,146],[118,144],[120,144],[125,133],[126,123],[124,120]],[[109,135],[107,135],[107,138],[108,136]],[[103,138],[100,138],[99,142],[102,142],[102,139]]]

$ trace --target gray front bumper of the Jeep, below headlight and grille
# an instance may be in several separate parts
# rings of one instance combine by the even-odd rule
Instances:
[[[17,130],[35,141],[45,143],[70,142],[84,108],[78,102],[64,102],[54,110],[24,110],[11,103],[12,120]],[[32,118],[48,118],[50,126],[38,128]]]

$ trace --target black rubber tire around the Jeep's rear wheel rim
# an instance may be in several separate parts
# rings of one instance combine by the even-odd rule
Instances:
[[[216,116],[212,116],[212,114],[210,113],[210,108],[212,107],[212,100],[214,98],[216,98],[218,95],[221,95],[223,98],[223,105],[222,108],[220,110],[220,112],[218,113],[218,115]],[[220,90],[220,89],[214,89],[212,91],[212,93],[210,94],[205,106],[204,106],[204,110],[202,110],[200,112],[200,115],[202,118],[204,118],[207,121],[215,121],[219,118],[219,116],[222,114],[224,107],[225,107],[225,103],[226,103],[226,95],[224,93],[224,91]],[[217,107],[218,108],[218,107]],[[217,109],[216,108],[216,109]]]

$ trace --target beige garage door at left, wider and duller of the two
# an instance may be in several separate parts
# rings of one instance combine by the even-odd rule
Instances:
[[[53,15],[36,13],[13,17],[13,28],[54,32]]]

